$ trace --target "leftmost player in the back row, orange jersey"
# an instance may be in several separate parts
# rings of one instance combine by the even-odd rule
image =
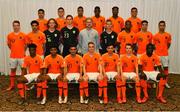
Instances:
[[[45,30],[47,30],[47,19],[45,19],[44,17],[45,17],[44,9],[39,9],[38,10],[38,19],[36,19],[36,21],[39,22],[39,30],[41,32],[44,32]]]

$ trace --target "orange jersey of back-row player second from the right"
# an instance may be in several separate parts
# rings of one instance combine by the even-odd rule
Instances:
[[[124,20],[123,20],[123,18],[118,17],[118,18],[115,19],[113,17],[110,17],[109,19],[112,21],[112,24],[113,24],[112,30],[114,32],[116,32],[117,34],[119,32],[121,32],[122,28],[124,28]]]

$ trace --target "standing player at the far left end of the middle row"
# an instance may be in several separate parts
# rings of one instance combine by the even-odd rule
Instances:
[[[17,66],[22,66],[23,58],[25,56],[26,50],[26,35],[20,31],[20,22],[18,20],[13,21],[13,32],[9,33],[7,36],[7,44],[11,50],[10,54],[10,85],[7,90],[14,88],[16,68]]]

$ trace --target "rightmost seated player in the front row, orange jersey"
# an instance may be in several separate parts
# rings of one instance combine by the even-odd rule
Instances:
[[[157,90],[157,99],[162,102],[166,103],[167,101],[163,98],[163,92],[166,84],[166,75],[162,69],[160,58],[153,53],[154,45],[148,44],[146,47],[146,53],[143,54],[139,59],[139,71],[140,71],[140,78],[141,78],[141,86],[144,92],[144,98],[142,99],[142,103],[148,100],[148,92],[147,92],[147,81],[146,80],[153,80],[158,82],[158,90]],[[159,71],[155,71],[154,67],[157,66]]]

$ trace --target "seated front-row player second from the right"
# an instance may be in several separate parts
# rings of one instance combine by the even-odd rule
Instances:
[[[122,77],[122,103],[126,103],[126,80],[134,80],[136,88],[136,101],[141,103],[141,85],[138,76],[138,59],[133,54],[132,45],[126,44],[126,54],[120,58],[120,71]]]

